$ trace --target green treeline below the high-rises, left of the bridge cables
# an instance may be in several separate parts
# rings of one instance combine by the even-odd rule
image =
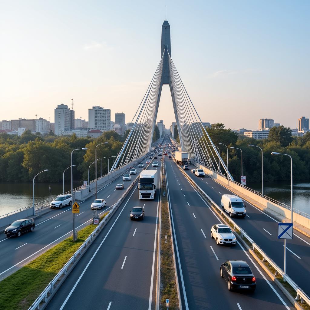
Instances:
[[[29,182],[38,172],[48,169],[46,173],[38,175],[36,182],[60,182],[63,171],[71,165],[71,152],[77,148],[88,148],[87,151],[73,153],[73,168],[75,180],[88,179],[88,166],[95,161],[95,146],[102,142],[108,144],[97,148],[97,158],[102,160],[102,175],[108,171],[108,157],[116,156],[120,152],[124,137],[115,131],[106,131],[99,138],[77,138],[72,136],[55,136],[52,132],[48,135],[32,134],[25,131],[23,135],[12,136],[0,134],[0,181]],[[110,158],[110,167],[113,163]],[[97,162],[98,176],[100,176],[100,161]],[[66,173],[69,173],[68,169]],[[65,179],[69,178],[65,176]],[[95,165],[91,166],[90,179],[95,177]]]

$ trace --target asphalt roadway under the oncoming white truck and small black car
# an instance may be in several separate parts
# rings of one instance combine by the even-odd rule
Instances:
[[[157,171],[160,173],[160,166]],[[154,200],[139,200],[138,190],[133,188],[47,309],[154,308],[159,182],[158,175]],[[134,206],[144,206],[144,220],[130,220]]]

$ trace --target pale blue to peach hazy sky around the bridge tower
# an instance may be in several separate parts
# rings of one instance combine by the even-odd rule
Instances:
[[[161,25],[202,121],[257,129],[310,116],[310,1],[0,0],[0,120],[100,105],[131,121],[160,61]],[[169,87],[157,120],[175,121]]]

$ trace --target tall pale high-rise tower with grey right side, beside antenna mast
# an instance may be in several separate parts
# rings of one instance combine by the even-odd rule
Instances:
[[[55,108],[55,135],[60,135],[61,131],[74,129],[74,110],[65,104],[58,104]]]

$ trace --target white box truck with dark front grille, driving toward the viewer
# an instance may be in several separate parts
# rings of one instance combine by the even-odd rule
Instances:
[[[137,188],[139,199],[154,199],[157,190],[157,170],[143,170]]]

